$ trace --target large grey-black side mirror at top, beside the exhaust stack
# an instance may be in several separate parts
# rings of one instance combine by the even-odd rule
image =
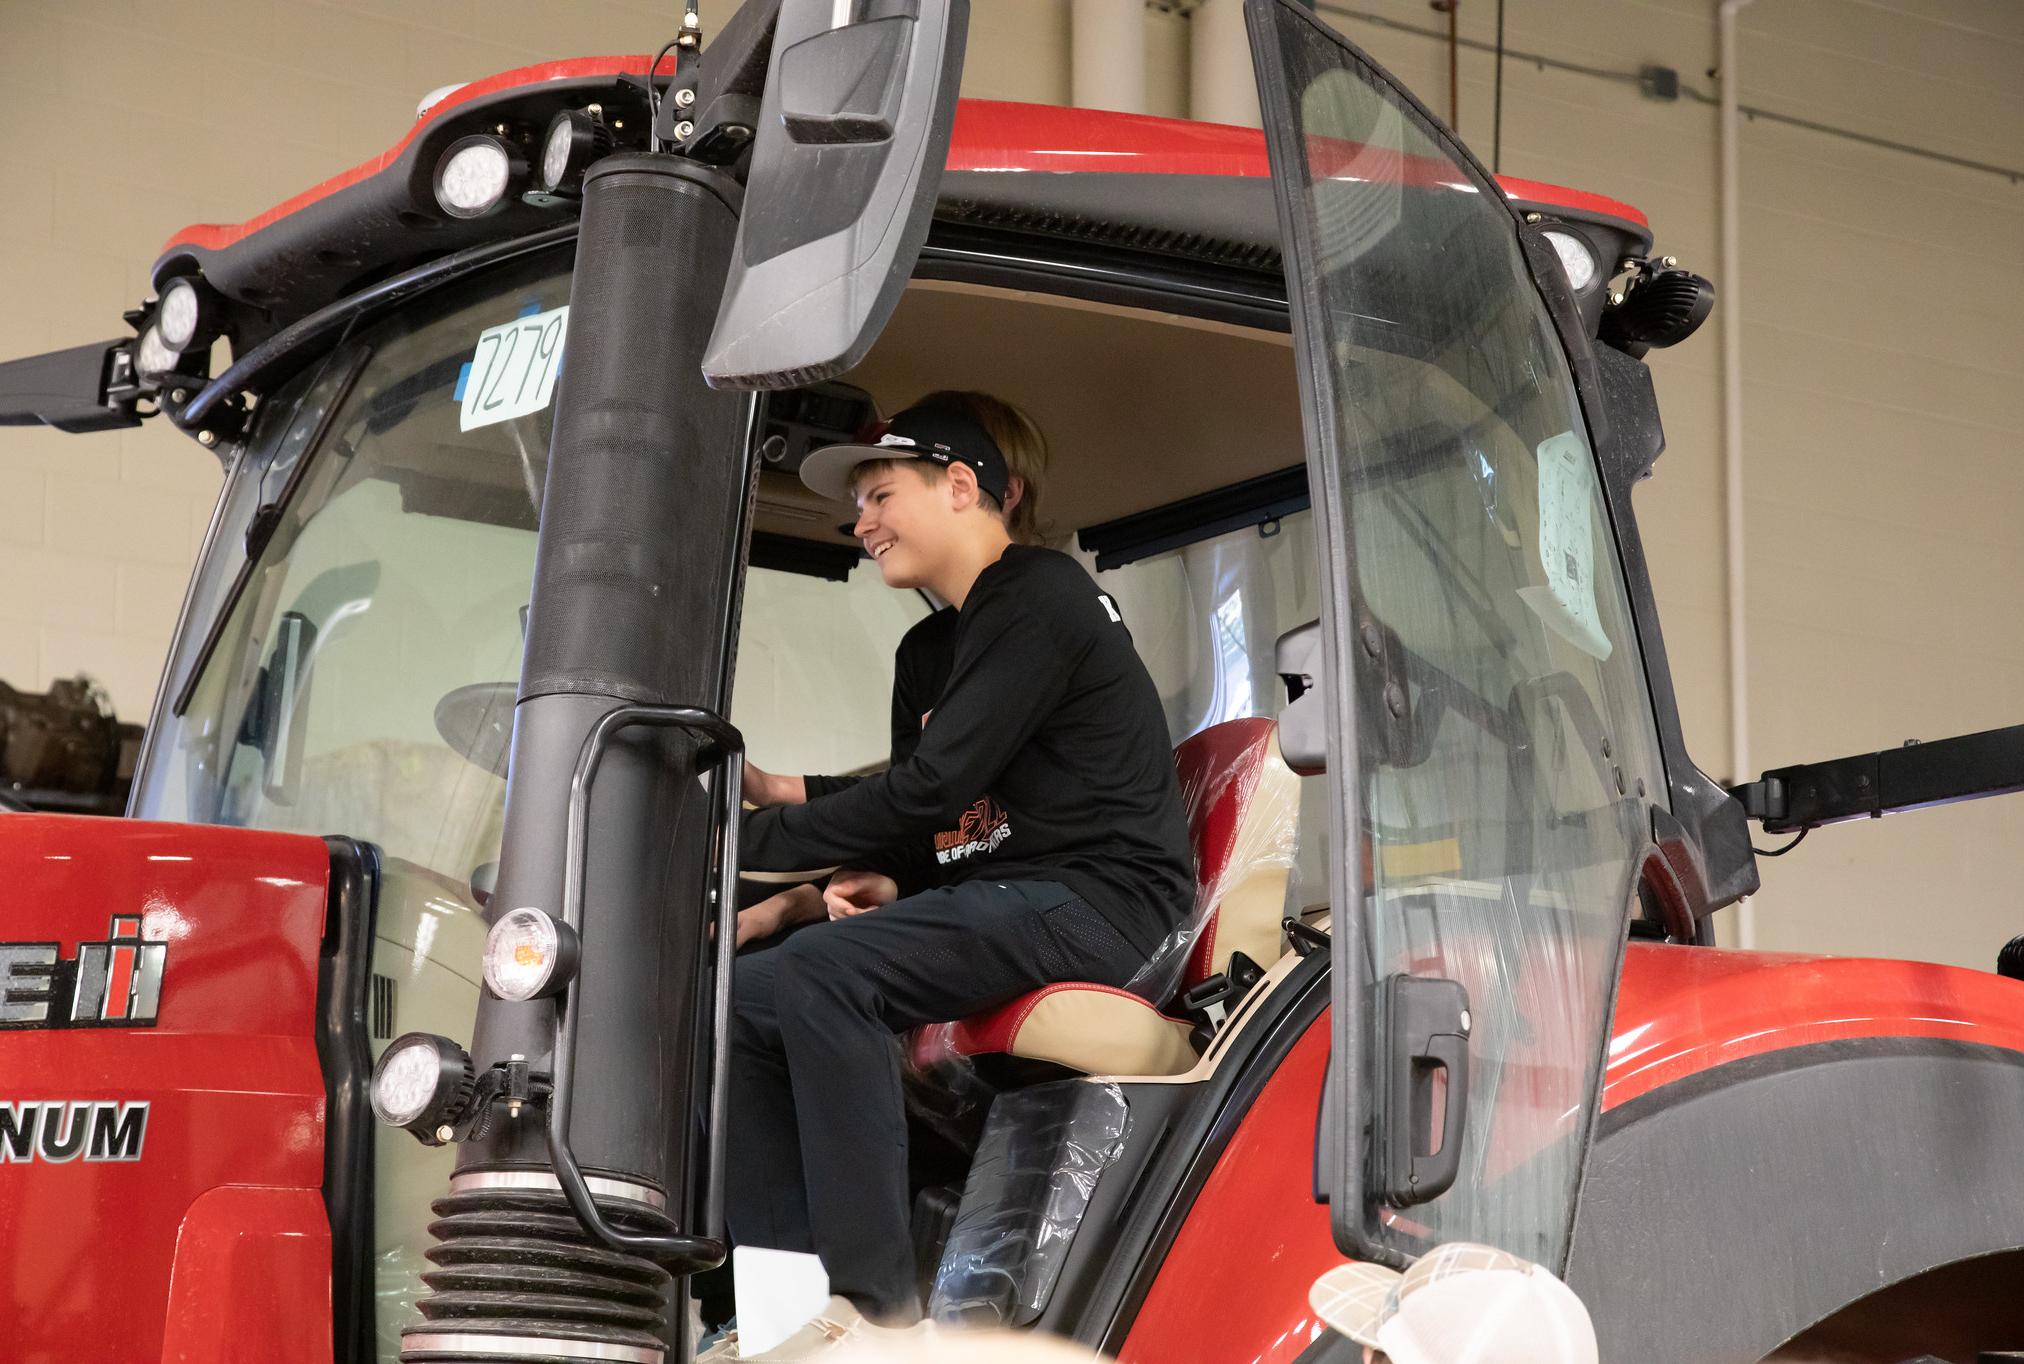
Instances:
[[[967,28],[969,0],[781,0],[710,387],[793,389],[870,350],[927,241]]]

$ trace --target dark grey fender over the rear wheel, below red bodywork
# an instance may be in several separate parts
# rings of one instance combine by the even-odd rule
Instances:
[[[1880,1289],[2018,1247],[2024,1052],[1850,1038],[1603,1113],[1567,1279],[1603,1360],[1757,1364]]]

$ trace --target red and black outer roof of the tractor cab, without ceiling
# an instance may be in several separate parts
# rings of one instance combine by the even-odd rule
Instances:
[[[425,103],[415,125],[378,156],[245,223],[200,223],[176,233],[154,265],[160,289],[200,273],[265,336],[395,271],[480,243],[557,227],[567,202],[508,196],[494,212],[457,219],[435,200],[445,150],[476,134],[504,136],[530,154],[563,109],[597,105],[617,146],[644,144],[646,57],[579,57],[520,67],[459,85]],[[1253,127],[965,99],[957,107],[937,204],[939,225],[976,225],[1034,237],[1184,257],[1277,273],[1265,140]],[[1439,166],[1401,168],[1449,178]],[[1429,180],[1431,184],[1433,180]],[[1526,208],[1603,229],[1621,249],[1648,249],[1650,229],[1629,204],[1536,180],[1502,176]]]

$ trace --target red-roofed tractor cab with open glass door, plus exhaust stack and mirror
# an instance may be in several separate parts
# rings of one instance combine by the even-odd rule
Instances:
[[[130,814],[360,850],[334,1356],[686,1358],[733,915],[779,888],[737,868],[739,757],[884,765],[937,605],[795,470],[941,389],[1046,437],[1042,534],[1160,690],[1196,903],[1154,1000],[907,1040],[931,1311],[1354,1358],[1305,1307],[1344,1255],[1569,1271],[1656,969],[1625,939],[1755,888],[1629,496],[1643,354],[1706,281],[1285,0],[1249,6],[1263,138],[957,103],[961,4],[844,10],[461,87],[172,241],[134,340],[0,370],[14,417],[154,409],[225,463]]]

